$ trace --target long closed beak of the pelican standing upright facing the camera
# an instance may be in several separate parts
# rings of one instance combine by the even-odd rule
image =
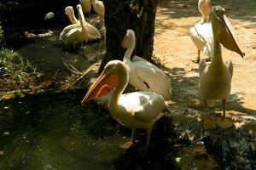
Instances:
[[[224,26],[225,30],[220,31],[220,42],[224,45],[225,48],[228,48],[231,51],[234,51],[237,54],[240,54],[241,57],[243,57],[245,53],[241,51],[241,45],[238,42],[234,28],[233,26],[231,26],[228,18],[225,16],[225,14],[218,15],[218,21],[222,24],[222,26]]]

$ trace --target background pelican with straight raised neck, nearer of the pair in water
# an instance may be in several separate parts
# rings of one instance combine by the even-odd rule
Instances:
[[[82,6],[77,5],[79,11],[79,24],[66,26],[61,31],[60,39],[67,45],[75,45],[80,42],[94,41],[101,38],[101,33],[95,26],[90,25],[84,20]]]

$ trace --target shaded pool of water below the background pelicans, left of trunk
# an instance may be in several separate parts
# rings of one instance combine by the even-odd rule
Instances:
[[[38,35],[47,29],[27,31]],[[14,48],[23,58],[30,61],[38,72],[49,75],[49,77],[55,76],[58,72],[69,75],[70,71],[85,71],[101,59],[104,53],[105,42],[103,40],[84,43],[83,48],[79,45],[76,49],[67,48],[64,42],[59,40],[62,28],[51,31],[53,34],[49,37],[26,37],[22,31],[9,32],[6,35],[8,48]]]

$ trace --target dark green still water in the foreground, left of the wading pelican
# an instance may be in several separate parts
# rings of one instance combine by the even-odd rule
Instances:
[[[84,93],[35,94],[1,101],[0,169],[172,167],[161,156],[122,149],[131,131],[93,102],[80,105]]]

